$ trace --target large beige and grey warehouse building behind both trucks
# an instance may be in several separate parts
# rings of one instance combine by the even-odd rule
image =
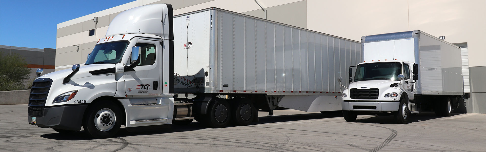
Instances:
[[[84,63],[122,11],[157,3],[174,15],[218,7],[357,41],[422,30],[461,47],[468,113],[486,113],[485,0],[136,0],[57,24],[55,70]]]

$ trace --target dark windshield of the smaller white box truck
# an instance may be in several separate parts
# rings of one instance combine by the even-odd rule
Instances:
[[[364,80],[397,80],[401,74],[399,62],[382,62],[360,64],[356,68],[354,81]]]

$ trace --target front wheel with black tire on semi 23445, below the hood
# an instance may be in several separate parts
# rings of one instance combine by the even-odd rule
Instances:
[[[109,101],[100,101],[88,108],[83,128],[94,138],[112,137],[120,130],[121,117],[118,106]]]

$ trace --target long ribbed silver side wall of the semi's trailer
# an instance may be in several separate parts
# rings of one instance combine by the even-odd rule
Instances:
[[[222,10],[217,14],[216,92],[341,92],[361,44]],[[256,92],[255,92],[256,91]],[[267,91],[267,92],[265,92]]]

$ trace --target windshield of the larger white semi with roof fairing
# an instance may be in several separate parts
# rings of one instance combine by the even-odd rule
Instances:
[[[118,63],[128,46],[128,41],[115,41],[94,46],[85,64]]]

